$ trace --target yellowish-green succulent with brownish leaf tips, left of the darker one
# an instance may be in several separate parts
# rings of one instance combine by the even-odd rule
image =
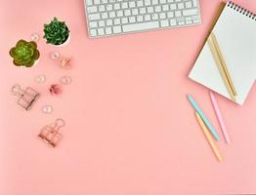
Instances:
[[[14,59],[14,64],[17,66],[31,67],[40,57],[37,45],[33,41],[27,42],[20,40],[17,42],[16,47],[12,48],[9,53]]]

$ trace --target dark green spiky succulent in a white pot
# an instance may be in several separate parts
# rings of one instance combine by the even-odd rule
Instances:
[[[50,23],[44,24],[44,38],[47,43],[62,45],[69,36],[69,29],[64,21],[54,18]]]

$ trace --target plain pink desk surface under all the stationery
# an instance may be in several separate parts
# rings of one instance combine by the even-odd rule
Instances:
[[[256,1],[236,0],[256,12]],[[187,93],[220,132],[208,91],[187,75],[220,0],[201,0],[202,25],[90,40],[82,0],[0,0],[0,194],[170,195],[256,193],[256,86],[243,106],[217,96],[233,143],[218,146],[218,163],[194,119]],[[9,49],[42,35],[53,17],[71,30],[67,47],[39,42],[40,62],[12,65]],[[73,58],[61,70],[53,51]],[[46,75],[36,84],[36,75]],[[60,97],[47,93],[63,75],[73,79]],[[10,95],[13,84],[42,96],[30,111]],[[41,106],[51,104],[52,114]],[[53,149],[37,138],[64,118],[64,139]]]

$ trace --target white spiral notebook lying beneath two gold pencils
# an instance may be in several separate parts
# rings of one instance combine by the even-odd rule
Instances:
[[[243,104],[256,79],[256,16],[235,3],[228,2],[213,32],[235,85],[235,102]],[[207,43],[196,59],[189,77],[232,99]]]

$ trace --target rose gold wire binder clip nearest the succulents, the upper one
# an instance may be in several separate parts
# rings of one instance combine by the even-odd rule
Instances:
[[[12,88],[12,94],[19,97],[17,104],[21,105],[25,110],[31,108],[34,101],[39,98],[40,94],[30,87],[21,89],[19,84],[15,84]]]

